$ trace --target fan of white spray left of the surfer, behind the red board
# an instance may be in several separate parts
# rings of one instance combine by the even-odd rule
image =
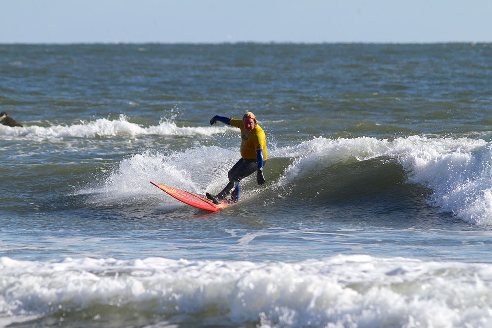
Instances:
[[[211,155],[213,154],[213,155]],[[159,207],[179,204],[149,182],[205,194],[223,187],[237,152],[218,147],[198,147],[184,152],[145,151],[124,159],[104,183],[79,194],[93,194],[96,203],[138,204],[157,202]]]

